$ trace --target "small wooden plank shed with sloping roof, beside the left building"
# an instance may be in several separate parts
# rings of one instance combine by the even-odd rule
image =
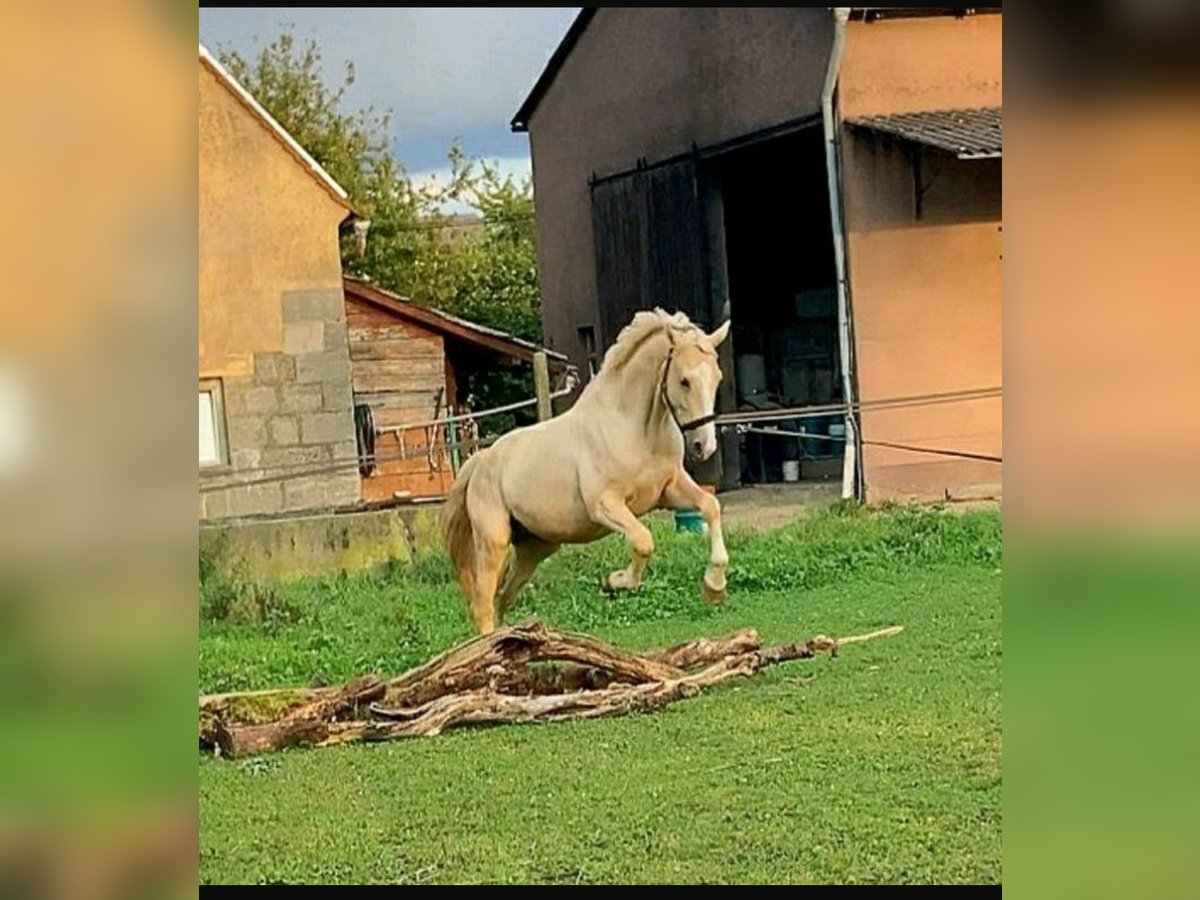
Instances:
[[[470,450],[457,424],[445,421],[464,412],[469,376],[530,366],[542,348],[362,278],[343,283],[362,498],[442,497]],[[565,355],[546,355],[565,370]]]

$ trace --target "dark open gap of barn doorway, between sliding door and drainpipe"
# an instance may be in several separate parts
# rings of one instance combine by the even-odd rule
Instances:
[[[725,410],[840,403],[836,270],[820,125],[704,161],[710,269],[724,271],[733,371]],[[718,298],[714,296],[714,300]],[[722,304],[724,306],[724,304]],[[722,482],[841,476],[842,416],[754,426],[722,444]],[[770,433],[763,433],[770,432]]]

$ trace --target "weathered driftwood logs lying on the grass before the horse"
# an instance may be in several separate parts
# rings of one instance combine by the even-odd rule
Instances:
[[[557,721],[659,709],[728,678],[869,635],[763,648],[754,629],[650,653],[628,653],[539,622],[467,641],[397,678],[356,678],[341,688],[200,697],[200,742],[223,756],[288,746],[427,737],[460,725]]]

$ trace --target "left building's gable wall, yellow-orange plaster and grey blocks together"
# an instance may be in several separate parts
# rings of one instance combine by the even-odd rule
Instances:
[[[199,64],[199,376],[218,379],[222,463],[200,518],[360,498],[338,224],[346,206]]]

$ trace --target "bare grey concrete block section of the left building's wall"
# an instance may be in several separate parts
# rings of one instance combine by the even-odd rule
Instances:
[[[336,509],[361,497],[343,294],[293,290],[282,304],[282,352],[257,353],[252,376],[222,380],[228,464],[202,469],[200,518]],[[246,480],[257,484],[236,484]]]

